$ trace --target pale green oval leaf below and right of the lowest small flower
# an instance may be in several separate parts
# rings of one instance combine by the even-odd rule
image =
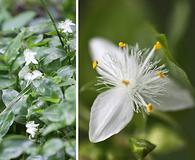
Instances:
[[[55,155],[63,147],[64,147],[64,143],[61,139],[59,138],[50,139],[43,145],[43,154],[46,157]]]

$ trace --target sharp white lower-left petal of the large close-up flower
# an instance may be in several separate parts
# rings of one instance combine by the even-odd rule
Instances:
[[[124,88],[115,87],[101,93],[93,103],[89,139],[100,142],[120,132],[132,119],[133,103]]]

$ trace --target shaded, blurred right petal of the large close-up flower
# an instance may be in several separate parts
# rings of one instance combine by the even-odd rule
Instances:
[[[189,90],[181,87],[171,79],[167,79],[167,93],[159,97],[160,105],[154,107],[163,111],[175,111],[194,106],[194,100]]]

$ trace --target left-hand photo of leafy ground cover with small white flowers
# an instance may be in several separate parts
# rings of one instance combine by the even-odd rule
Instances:
[[[76,1],[0,1],[0,160],[76,159]]]

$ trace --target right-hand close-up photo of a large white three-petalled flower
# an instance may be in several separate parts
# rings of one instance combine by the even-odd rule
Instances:
[[[194,6],[79,1],[79,160],[195,159]]]

